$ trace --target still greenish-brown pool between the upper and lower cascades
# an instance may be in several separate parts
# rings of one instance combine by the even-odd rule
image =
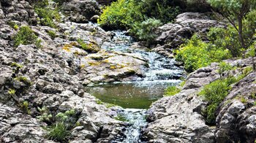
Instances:
[[[121,82],[87,87],[86,90],[92,96],[109,104],[123,108],[148,109],[152,102],[162,98],[168,85],[178,82],[179,80],[170,82]]]

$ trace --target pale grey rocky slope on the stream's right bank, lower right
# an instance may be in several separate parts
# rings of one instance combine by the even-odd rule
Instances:
[[[242,69],[251,66],[251,59],[226,61]],[[256,137],[255,93],[256,72],[233,85],[222,104],[219,104],[217,126],[206,125],[202,112],[207,102],[197,93],[204,85],[219,79],[218,64],[189,74],[181,92],[161,98],[148,110],[148,126],[144,138],[149,142],[254,142]],[[237,76],[240,70],[230,71]],[[227,73],[226,73],[227,76]],[[245,100],[244,100],[244,99]]]

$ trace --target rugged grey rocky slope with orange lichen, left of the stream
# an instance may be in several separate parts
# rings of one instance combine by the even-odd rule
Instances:
[[[122,133],[124,123],[113,119],[117,110],[97,104],[83,85],[136,75],[138,66],[146,64],[143,58],[102,50],[112,34],[89,23],[58,23],[58,30],[39,26],[29,1],[1,1],[0,13],[0,142],[53,142],[45,137],[42,127],[47,124],[39,120],[38,108],[48,109],[53,117],[75,109],[69,142],[108,142]],[[14,47],[12,36],[17,31],[8,25],[10,21],[30,25],[42,48]],[[51,39],[48,31],[55,31],[57,37]],[[81,50],[78,39],[92,50]]]

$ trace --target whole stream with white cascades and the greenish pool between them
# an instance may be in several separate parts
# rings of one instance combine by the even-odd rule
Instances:
[[[108,51],[121,51],[123,53],[136,53],[148,61],[146,77],[133,82],[114,82],[110,84],[99,84],[88,87],[87,91],[101,101],[115,104],[124,108],[121,116],[130,124],[124,134],[125,143],[139,143],[140,129],[146,126],[146,109],[152,102],[162,98],[165,89],[170,85],[178,85],[183,77],[183,69],[175,66],[175,60],[165,58],[155,52],[129,48],[132,45],[131,37],[125,36],[125,31],[113,31],[115,36],[111,46],[102,46]]]

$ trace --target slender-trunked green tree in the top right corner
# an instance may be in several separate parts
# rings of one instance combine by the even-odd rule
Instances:
[[[211,7],[217,9],[217,11],[227,18],[231,25],[236,28],[238,32],[239,42],[241,47],[246,48],[244,42],[244,32],[243,32],[243,20],[246,15],[256,7],[255,0],[208,0]]]

